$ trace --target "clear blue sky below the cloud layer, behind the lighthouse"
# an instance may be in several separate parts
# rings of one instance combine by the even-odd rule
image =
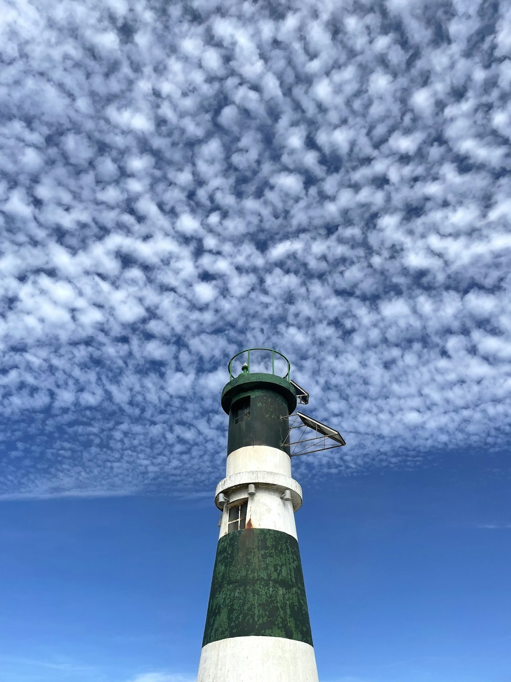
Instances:
[[[296,520],[322,682],[508,681],[507,456],[437,463],[306,486]],[[193,497],[5,503],[0,679],[193,681],[216,524]]]

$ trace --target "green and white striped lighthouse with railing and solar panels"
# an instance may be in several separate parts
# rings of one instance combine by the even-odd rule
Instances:
[[[281,353],[242,351],[228,371],[226,476],[215,490],[220,532],[198,682],[318,682],[294,520],[303,496],[291,460],[296,448],[345,443],[312,417],[293,415],[309,396]],[[294,441],[294,421],[313,437]],[[323,447],[311,449],[318,441]]]

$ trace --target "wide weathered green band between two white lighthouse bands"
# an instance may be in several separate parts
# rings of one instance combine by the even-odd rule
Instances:
[[[248,527],[219,539],[202,646],[253,635],[312,644],[298,542]]]

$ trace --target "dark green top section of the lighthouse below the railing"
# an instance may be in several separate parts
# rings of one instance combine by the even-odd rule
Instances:
[[[233,406],[250,396],[250,419],[234,424]],[[296,407],[296,393],[285,379],[273,374],[241,374],[222,393],[222,407],[229,414],[227,454],[247,445],[269,445],[290,454],[288,415]]]

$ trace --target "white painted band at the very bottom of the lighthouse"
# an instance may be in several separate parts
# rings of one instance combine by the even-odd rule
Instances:
[[[197,682],[318,682],[314,649],[283,637],[232,637],[200,653]]]

